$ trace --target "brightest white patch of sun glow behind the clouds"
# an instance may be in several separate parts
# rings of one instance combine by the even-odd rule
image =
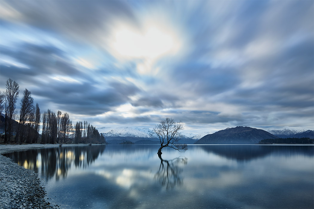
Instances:
[[[180,48],[178,36],[170,27],[148,23],[143,30],[120,25],[112,34],[114,51],[127,59],[146,59],[151,62],[164,55],[173,55]]]

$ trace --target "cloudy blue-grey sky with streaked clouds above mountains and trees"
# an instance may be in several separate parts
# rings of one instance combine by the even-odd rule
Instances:
[[[313,130],[314,2],[0,1],[8,78],[73,124]]]

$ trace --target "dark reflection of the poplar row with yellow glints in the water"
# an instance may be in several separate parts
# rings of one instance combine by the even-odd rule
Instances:
[[[35,170],[46,181],[65,178],[71,166],[86,168],[106,149],[105,145],[34,149],[4,154],[24,168]],[[40,168],[40,170],[39,170]]]

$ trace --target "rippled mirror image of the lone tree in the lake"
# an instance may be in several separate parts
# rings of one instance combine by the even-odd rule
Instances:
[[[154,179],[158,181],[166,189],[173,189],[175,186],[181,186],[183,179],[180,176],[182,169],[180,165],[187,164],[187,158],[180,156],[172,160],[165,160],[160,158],[160,166],[158,172],[155,174]]]

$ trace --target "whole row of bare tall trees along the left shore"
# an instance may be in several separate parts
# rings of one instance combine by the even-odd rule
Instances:
[[[4,120],[0,120],[0,127],[4,126],[4,134],[1,134],[4,144],[102,144],[106,142],[105,137],[87,121],[77,122],[73,127],[67,112],[58,111],[56,114],[48,109],[41,115],[38,103],[34,106],[31,92],[26,88],[20,101],[21,108],[18,115],[16,110],[18,98],[19,84],[9,78],[6,81],[6,91],[0,92],[0,113],[4,111]],[[16,121],[17,119],[19,122]]]

